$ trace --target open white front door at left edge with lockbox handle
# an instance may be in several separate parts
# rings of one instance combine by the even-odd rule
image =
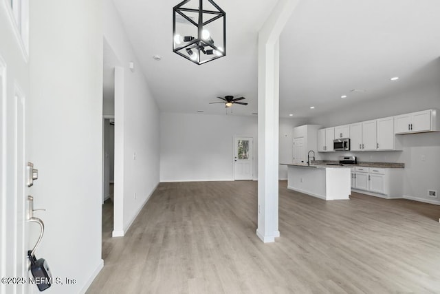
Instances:
[[[32,293],[28,277],[29,233],[26,120],[29,65],[22,24],[22,1],[0,1],[0,293]],[[14,8],[12,9],[12,5]],[[35,240],[36,241],[36,240]],[[8,278],[15,280],[8,280]],[[33,285],[35,287],[35,285]]]

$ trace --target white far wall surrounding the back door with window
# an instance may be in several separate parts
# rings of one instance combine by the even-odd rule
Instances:
[[[234,136],[254,138],[257,178],[257,127],[254,116],[162,113],[161,182],[234,180]]]

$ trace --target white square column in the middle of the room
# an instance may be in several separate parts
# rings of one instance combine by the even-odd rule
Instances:
[[[279,36],[298,0],[279,0],[259,32],[259,188],[258,228],[263,242],[278,231]]]

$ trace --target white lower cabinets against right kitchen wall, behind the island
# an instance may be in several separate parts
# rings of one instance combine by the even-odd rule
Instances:
[[[403,169],[355,167],[354,191],[382,198],[402,198],[402,187]]]

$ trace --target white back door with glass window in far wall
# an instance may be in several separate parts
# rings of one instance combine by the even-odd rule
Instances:
[[[234,138],[234,180],[252,180],[254,176],[254,138]]]

